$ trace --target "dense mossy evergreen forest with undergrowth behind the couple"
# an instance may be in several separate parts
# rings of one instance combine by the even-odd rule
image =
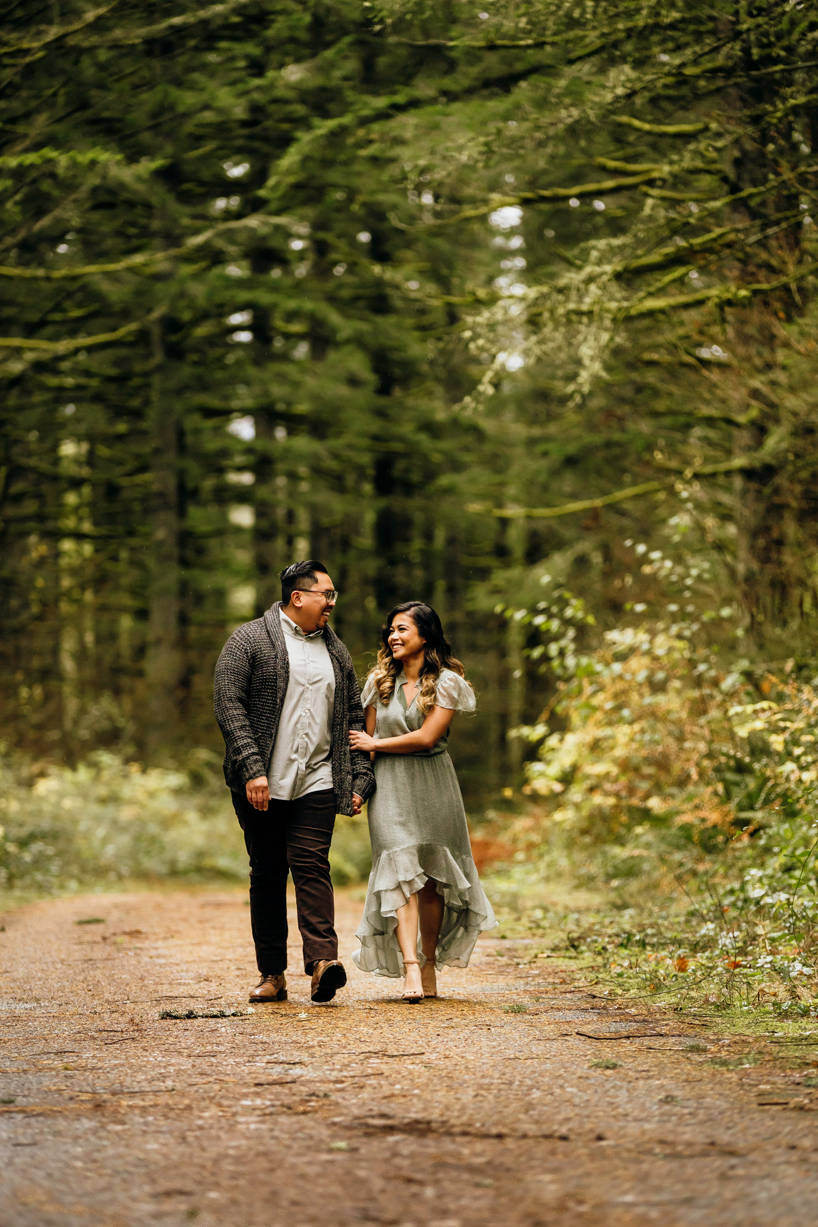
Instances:
[[[818,15],[482,4],[6,6],[9,881],[94,761],[217,774],[215,659],[313,556],[361,676],[440,612],[500,894],[733,848],[752,944],[813,891]]]

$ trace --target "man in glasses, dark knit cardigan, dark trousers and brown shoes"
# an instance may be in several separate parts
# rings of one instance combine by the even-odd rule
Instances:
[[[330,628],[338,594],[314,558],[281,573],[281,602],[229,637],[216,665],[224,779],[250,858],[250,921],[261,979],[250,1001],[287,999],[287,874],[293,875],[313,1001],[347,982],[338,962],[330,842],[336,814],[375,790],[352,658]]]

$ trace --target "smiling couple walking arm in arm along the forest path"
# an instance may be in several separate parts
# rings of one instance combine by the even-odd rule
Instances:
[[[363,693],[329,626],[326,567],[281,573],[281,601],[240,626],[216,665],[224,778],[250,859],[250,921],[261,980],[251,1001],[287,998],[287,876],[293,875],[313,1001],[346,984],[329,852],[336,814],[369,800],[373,867],[352,956],[403,977],[403,1000],[437,996],[435,969],[466,967],[495,924],[471,855],[446,753],[455,712],[473,712],[440,618],[407,601],[386,618]]]

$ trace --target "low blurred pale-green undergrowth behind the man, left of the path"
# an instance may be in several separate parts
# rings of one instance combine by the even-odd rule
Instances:
[[[211,761],[212,760],[212,761]],[[186,771],[143,768],[107,751],[75,768],[0,763],[0,886],[72,890],[135,877],[247,879],[247,853],[215,756]],[[341,818],[338,885],[369,871],[365,820]]]

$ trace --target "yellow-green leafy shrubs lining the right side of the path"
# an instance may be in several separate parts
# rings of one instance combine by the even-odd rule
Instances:
[[[690,595],[692,566],[665,566],[660,551],[649,558]],[[493,897],[527,903],[556,870],[613,887],[617,914],[589,918],[571,939],[601,980],[714,1006],[818,1012],[813,683],[796,679],[793,661],[784,677],[747,660],[721,665],[715,627],[732,607],[701,610],[700,600],[682,614],[667,600],[665,616],[613,627],[592,645],[585,629],[567,633],[559,599],[589,625],[570,594],[552,596],[540,655],[557,690],[540,721],[516,730],[537,747],[531,804],[498,832],[516,852]]]

